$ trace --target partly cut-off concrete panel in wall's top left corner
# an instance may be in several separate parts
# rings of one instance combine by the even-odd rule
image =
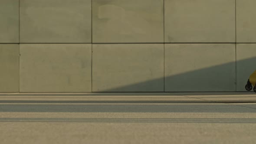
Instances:
[[[0,43],[19,43],[19,0],[0,0]]]

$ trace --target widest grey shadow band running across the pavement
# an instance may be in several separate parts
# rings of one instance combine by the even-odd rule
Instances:
[[[250,108],[252,107],[252,108]],[[237,105],[210,105],[210,104],[88,104],[88,105],[69,105],[69,104],[1,104],[0,112],[135,112],[135,113],[256,113],[255,105],[240,107]]]

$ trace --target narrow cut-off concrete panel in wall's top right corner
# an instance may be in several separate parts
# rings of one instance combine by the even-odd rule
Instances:
[[[236,42],[256,43],[255,0],[236,0]]]

